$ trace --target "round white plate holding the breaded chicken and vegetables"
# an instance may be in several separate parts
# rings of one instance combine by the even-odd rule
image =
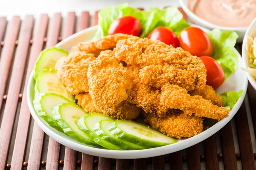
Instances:
[[[91,27],[80,31],[67,39],[63,40],[62,42],[58,43],[56,47],[63,48],[67,51],[70,51],[73,45],[76,45],[78,42],[83,42],[90,40],[96,32],[97,27]],[[234,49],[236,51],[236,49]],[[239,57],[239,66],[241,66],[242,60],[240,54],[236,51]],[[51,136],[57,142],[70,147],[73,150],[77,150],[82,153],[87,153],[93,156],[102,156],[106,158],[115,158],[115,159],[138,159],[138,158],[147,158],[153,156],[160,156],[165,155],[168,153],[172,153],[178,150],[185,149],[190,147],[194,144],[197,144],[204,139],[207,139],[209,136],[212,136],[218,130],[220,130],[224,125],[226,125],[230,119],[236,114],[238,109],[240,108],[244,96],[247,90],[247,78],[244,71],[238,69],[234,72],[228,79],[224,82],[223,85],[217,90],[217,93],[222,93],[226,91],[239,91],[241,89],[244,90],[242,96],[237,101],[236,105],[234,106],[233,110],[230,111],[230,114],[227,118],[222,119],[217,124],[205,130],[204,132],[198,134],[197,136],[193,136],[187,139],[178,140],[179,142],[175,144],[170,144],[163,147],[145,149],[145,150],[107,150],[107,149],[99,149],[91,146],[87,146],[77,142],[76,140],[70,138],[69,136],[65,135],[64,133],[60,133],[59,131],[55,130],[54,128],[50,127],[40,116],[35,112],[33,108],[33,99],[34,99],[34,86],[35,80],[33,78],[34,71],[30,75],[28,87],[27,87],[27,102],[29,105],[29,110],[31,115],[35,119],[35,122],[44,130],[47,135]]]

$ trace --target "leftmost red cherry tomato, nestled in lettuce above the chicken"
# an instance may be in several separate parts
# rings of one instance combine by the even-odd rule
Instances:
[[[140,21],[137,18],[130,15],[117,18],[116,20],[113,21],[113,23],[111,23],[108,29],[109,35],[122,33],[122,34],[135,35],[139,37],[141,32],[142,32],[142,26]]]

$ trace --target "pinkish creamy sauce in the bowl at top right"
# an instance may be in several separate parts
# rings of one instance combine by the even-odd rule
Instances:
[[[248,27],[256,17],[256,0],[188,0],[188,6],[217,26]]]

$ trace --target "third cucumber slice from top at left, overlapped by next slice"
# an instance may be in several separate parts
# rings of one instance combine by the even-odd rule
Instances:
[[[39,94],[33,101],[35,111],[38,113],[38,115],[42,119],[44,119],[44,121],[47,122],[51,127],[55,128],[60,132],[63,132],[63,130],[58,125],[58,123],[53,119],[52,108],[55,105],[68,102],[71,101],[59,94],[54,93]]]

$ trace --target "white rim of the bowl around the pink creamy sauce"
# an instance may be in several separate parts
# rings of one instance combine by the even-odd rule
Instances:
[[[218,28],[221,30],[231,30],[231,31],[237,31],[238,29],[240,29],[241,31],[246,31],[247,27],[224,27],[224,26],[217,26],[215,24],[209,23],[208,21],[198,17],[196,14],[194,14],[189,8],[188,6],[184,3],[184,0],[179,0],[180,1],[180,6],[181,8],[183,8],[183,10],[188,13],[189,15],[191,15],[192,17],[194,17],[196,20],[200,21],[201,23],[207,24],[209,27],[212,28]]]

